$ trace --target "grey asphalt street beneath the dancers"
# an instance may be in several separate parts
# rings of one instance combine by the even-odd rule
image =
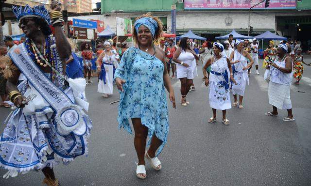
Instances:
[[[305,56],[306,62],[311,57]],[[260,60],[262,64],[262,60]],[[260,66],[260,65],[259,65]],[[208,89],[199,77],[194,79],[196,91],[187,96],[190,105],[180,104],[180,83],[172,79],[177,109],[169,102],[170,133],[159,159],[162,170],[154,171],[147,162],[147,178],[136,175],[137,161],[133,135],[119,130],[117,89],[109,98],[97,93],[97,80],[86,86],[93,120],[89,139],[89,155],[78,157],[68,166],[55,168],[62,186],[311,186],[311,67],[305,71],[300,85],[292,85],[291,99],[294,122],[286,123],[286,110],[268,117],[268,83],[255,71],[246,87],[244,109],[227,111],[230,125],[218,121],[208,124],[212,116]],[[299,91],[299,92],[298,92]],[[304,92],[304,93],[300,93]],[[231,102],[233,97],[231,96]],[[0,108],[0,122],[10,110]],[[0,125],[2,131],[4,125]],[[2,176],[6,171],[0,169]],[[40,186],[41,171],[3,179],[0,186]]]

